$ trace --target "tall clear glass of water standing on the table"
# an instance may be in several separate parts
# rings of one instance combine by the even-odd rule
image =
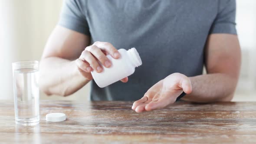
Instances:
[[[13,62],[15,122],[39,124],[38,61]]]

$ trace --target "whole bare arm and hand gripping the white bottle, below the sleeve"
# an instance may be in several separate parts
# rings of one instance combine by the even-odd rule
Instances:
[[[71,95],[90,80],[92,71],[102,72],[120,57],[117,49],[107,42],[95,42],[82,33],[56,26],[46,43],[40,63],[40,89],[47,95]],[[128,78],[121,79],[127,82]]]

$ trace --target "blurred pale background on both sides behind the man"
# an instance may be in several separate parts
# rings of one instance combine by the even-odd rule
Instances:
[[[256,101],[256,0],[236,1],[237,31],[242,48],[240,81],[233,101]],[[13,99],[11,63],[40,60],[46,40],[59,20],[62,0],[0,0],[0,99]],[[87,100],[89,85],[68,97]]]

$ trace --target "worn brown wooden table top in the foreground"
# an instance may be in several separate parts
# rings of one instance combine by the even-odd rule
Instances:
[[[0,142],[256,143],[256,102],[177,102],[144,113],[126,101],[41,101],[40,124],[18,126],[13,102],[0,101]],[[45,121],[63,112],[67,120]]]

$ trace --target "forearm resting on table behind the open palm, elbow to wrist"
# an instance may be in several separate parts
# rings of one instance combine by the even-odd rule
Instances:
[[[223,73],[198,75],[190,80],[192,93],[182,99],[195,102],[230,101],[237,83],[236,78]]]

